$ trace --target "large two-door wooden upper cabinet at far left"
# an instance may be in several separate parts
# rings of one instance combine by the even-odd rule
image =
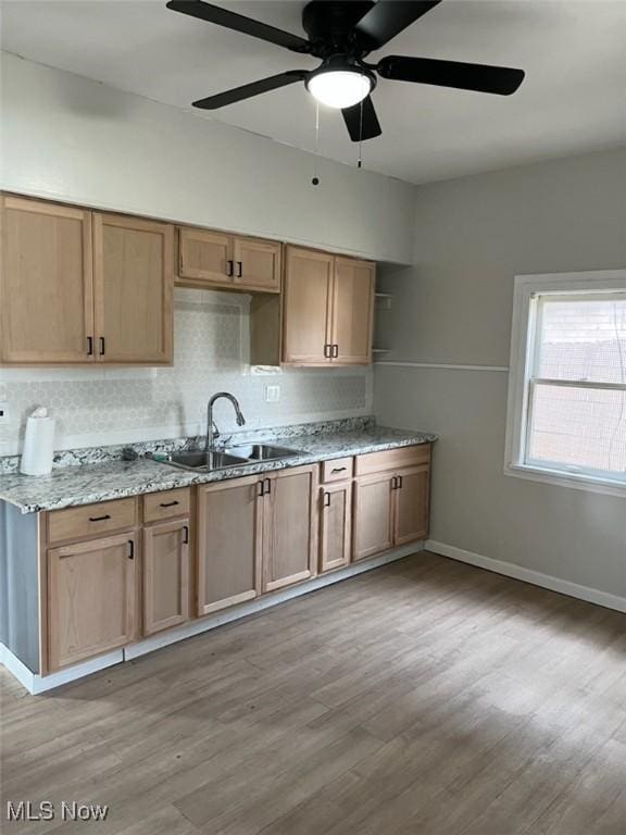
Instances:
[[[2,198],[2,364],[170,364],[173,289],[173,226]]]

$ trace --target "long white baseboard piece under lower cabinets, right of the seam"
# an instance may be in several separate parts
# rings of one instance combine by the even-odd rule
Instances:
[[[356,576],[365,571],[372,571],[372,569],[378,569],[380,565],[386,565],[389,562],[401,560],[404,557],[409,557],[412,553],[417,553],[424,550],[424,543],[411,543],[409,545],[402,545],[399,548],[395,548],[391,551],[386,551],[378,557],[373,557],[363,562],[355,562],[352,565],[348,565],[345,569],[338,569],[329,574],[321,574],[314,579],[306,581],[291,588],[285,588],[280,591],[275,591],[273,595],[266,597],[260,597],[256,600],[250,600],[247,603],[240,603],[233,609],[225,609],[223,612],[202,618],[197,621],[191,621],[184,626],[179,626],[175,630],[170,630],[161,635],[154,635],[153,637],[140,640],[137,644],[130,644],[124,649],[124,657],[127,661],[133,658],[139,658],[148,652],[153,652],[161,647],[167,647],[171,644],[176,644],[185,638],[190,638],[193,635],[200,635],[203,632],[209,632],[217,626],[223,626],[225,623],[231,623],[238,621],[241,618],[246,618],[249,614],[255,614],[263,611],[263,609],[270,609],[278,603],[284,603],[287,600],[292,600],[296,597],[308,595],[310,591],[315,591],[324,586],[330,586],[334,583],[339,583],[348,577]]]

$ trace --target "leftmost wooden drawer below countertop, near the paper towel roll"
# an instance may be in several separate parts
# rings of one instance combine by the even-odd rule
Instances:
[[[48,513],[48,541],[62,543],[135,527],[136,501],[116,499]]]

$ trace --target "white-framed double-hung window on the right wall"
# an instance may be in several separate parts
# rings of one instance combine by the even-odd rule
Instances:
[[[626,271],[515,279],[505,472],[626,495]]]

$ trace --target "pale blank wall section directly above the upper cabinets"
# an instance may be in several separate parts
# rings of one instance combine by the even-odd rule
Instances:
[[[0,186],[411,263],[415,188],[1,54]]]

